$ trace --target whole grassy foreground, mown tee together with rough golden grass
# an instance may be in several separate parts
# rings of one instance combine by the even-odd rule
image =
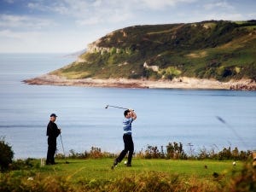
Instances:
[[[113,159],[56,160],[57,165],[0,173],[0,191],[240,191],[256,188],[252,174],[241,175],[245,162],[231,160],[145,160],[134,158],[132,166],[122,161],[113,170]],[[252,164],[250,164],[252,165]],[[252,171],[249,171],[252,172]],[[235,177],[235,179],[234,179]]]

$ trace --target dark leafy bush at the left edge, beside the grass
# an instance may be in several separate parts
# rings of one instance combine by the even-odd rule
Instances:
[[[12,163],[14,152],[9,143],[5,143],[4,138],[0,138],[0,170],[5,171],[8,169],[9,164]]]

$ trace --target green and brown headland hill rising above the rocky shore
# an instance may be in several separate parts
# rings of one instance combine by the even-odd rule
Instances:
[[[256,80],[256,20],[130,26],[51,74],[67,79]]]

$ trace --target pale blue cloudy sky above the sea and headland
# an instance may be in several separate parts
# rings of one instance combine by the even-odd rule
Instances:
[[[126,26],[255,19],[255,0],[0,0],[0,53],[73,53]]]

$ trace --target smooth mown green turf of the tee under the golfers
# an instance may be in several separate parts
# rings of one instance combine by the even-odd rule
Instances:
[[[229,177],[232,171],[241,170],[242,163],[233,166],[232,161],[217,160],[143,160],[135,159],[131,167],[126,167],[122,161],[113,170],[113,159],[98,160],[57,160],[55,166],[44,166],[38,169],[42,175],[66,176],[68,180],[110,180],[118,177],[136,176],[147,172],[164,172],[166,174],[179,174],[183,177],[212,177],[218,173]]]

